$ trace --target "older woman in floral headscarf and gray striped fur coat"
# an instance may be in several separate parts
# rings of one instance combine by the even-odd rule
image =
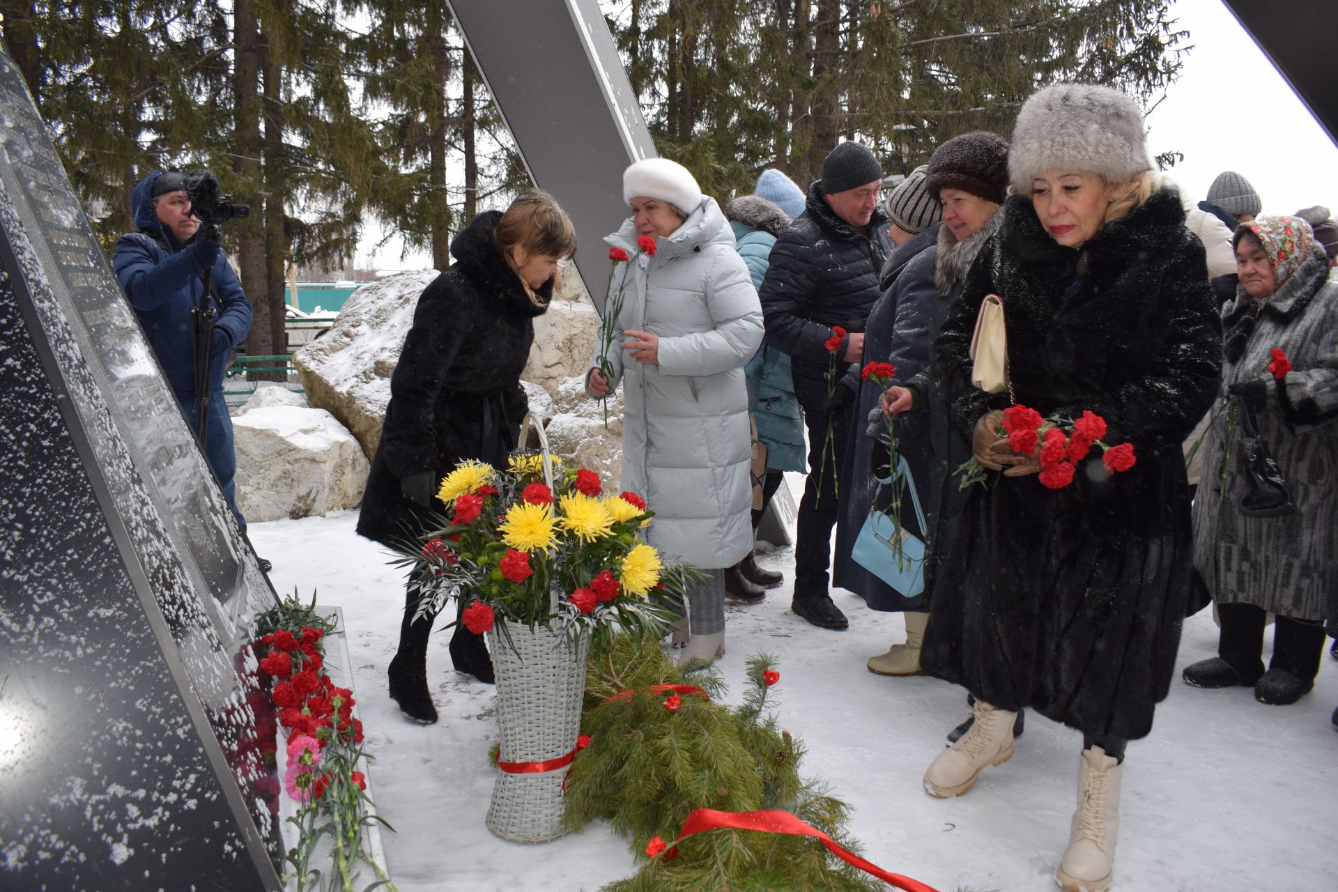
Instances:
[[[1218,657],[1185,667],[1184,681],[1254,687],[1262,703],[1294,703],[1319,671],[1322,618],[1334,619],[1326,598],[1338,599],[1338,280],[1299,217],[1256,217],[1236,230],[1234,247],[1240,285],[1222,309],[1224,393],[1193,506],[1193,563],[1218,603],[1222,634]],[[1275,358],[1279,349],[1286,360]],[[1231,397],[1255,411],[1295,512],[1242,514],[1248,481],[1232,424],[1239,412],[1226,411]],[[1267,611],[1278,623],[1264,671]]]

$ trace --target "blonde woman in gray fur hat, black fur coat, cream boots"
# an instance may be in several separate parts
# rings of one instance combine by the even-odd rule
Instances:
[[[951,419],[991,471],[971,488],[934,588],[921,665],[975,695],[975,722],[925,773],[959,796],[1013,754],[1024,706],[1082,732],[1078,809],[1056,872],[1070,892],[1113,872],[1124,748],[1152,729],[1175,669],[1192,570],[1180,443],[1222,380],[1203,245],[1160,189],[1143,115],[1108,87],[1032,95],[1009,148],[1013,195],[937,342]],[[1136,464],[1100,459],[1050,489],[1036,455],[998,436],[1009,392],[971,385],[981,302],[1002,297],[1016,403],[1105,419]],[[1096,455],[1093,452],[1093,455]]]

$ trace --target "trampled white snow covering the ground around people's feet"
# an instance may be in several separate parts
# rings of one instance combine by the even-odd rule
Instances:
[[[403,718],[385,691],[404,590],[388,555],[353,532],[356,511],[250,526],[274,563],[276,588],[344,608],[356,695],[376,758],[384,843],[401,892],[597,889],[629,876],[628,843],[603,826],[545,845],[504,843],[483,825],[494,770],[492,687],[451,670],[447,634],[434,635],[428,677],[442,721]],[[789,550],[764,567],[787,575],[764,602],[727,607],[727,682],[741,686],[756,651],[780,661],[781,723],[807,744],[804,769],[854,806],[864,856],[942,892],[1054,889],[1068,843],[1081,737],[1029,714],[1017,754],[975,788],[939,801],[921,776],[943,736],[967,714],[961,689],[933,678],[883,678],[864,659],[903,638],[900,614],[878,614],[848,592],[836,603],[848,631],[809,626],[788,611]],[[1267,635],[1271,643],[1271,630]],[[1208,611],[1185,623],[1181,665],[1216,653]],[[1294,706],[1264,706],[1247,689],[1207,691],[1176,682],[1151,737],[1131,744],[1116,885],[1123,892],[1333,892],[1338,889],[1338,663]],[[1267,649],[1266,649],[1267,651]],[[1267,653],[1266,653],[1267,657]],[[796,891],[797,892],[797,891]]]

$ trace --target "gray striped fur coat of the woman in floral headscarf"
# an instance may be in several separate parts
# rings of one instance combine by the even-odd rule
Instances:
[[[1203,441],[1203,481],[1193,507],[1193,563],[1208,592],[1224,603],[1247,603],[1297,619],[1338,621],[1325,599],[1338,592],[1338,281],[1323,249],[1315,247],[1272,297],[1255,301],[1236,292],[1222,308],[1226,385],[1255,377],[1274,348],[1293,370],[1268,389],[1259,435],[1291,487],[1298,511],[1250,519],[1236,506],[1244,492],[1240,433],[1223,460],[1227,415]],[[1226,396],[1218,409],[1226,407]],[[1338,606],[1335,606],[1338,607]]]

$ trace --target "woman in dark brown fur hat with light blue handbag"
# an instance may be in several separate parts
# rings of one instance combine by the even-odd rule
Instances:
[[[887,608],[904,611],[906,642],[868,659],[868,670],[880,675],[918,675],[921,671],[921,646],[937,575],[934,555],[942,558],[951,550],[965,501],[951,475],[966,460],[966,440],[947,423],[947,407],[933,386],[930,352],[949,309],[962,293],[966,271],[998,229],[998,210],[1008,191],[1008,140],[983,130],[949,139],[929,159],[926,186],[943,207],[943,226],[938,230],[935,247],[906,265],[894,290],[895,314],[886,361],[896,366],[898,385],[904,386],[887,395],[886,412],[896,415],[910,409],[898,420],[898,441],[904,443],[906,463],[927,528],[915,530],[909,496],[904,496],[902,523],[923,536],[931,559],[926,563],[925,591],[919,595],[904,599],[883,586],[894,603],[899,602]],[[868,342],[875,340],[872,325],[864,337],[864,354],[874,358],[868,353]],[[879,439],[887,435],[883,411],[880,407],[870,425],[870,432]],[[886,471],[879,476],[886,476]],[[883,493],[886,500],[887,488]]]

